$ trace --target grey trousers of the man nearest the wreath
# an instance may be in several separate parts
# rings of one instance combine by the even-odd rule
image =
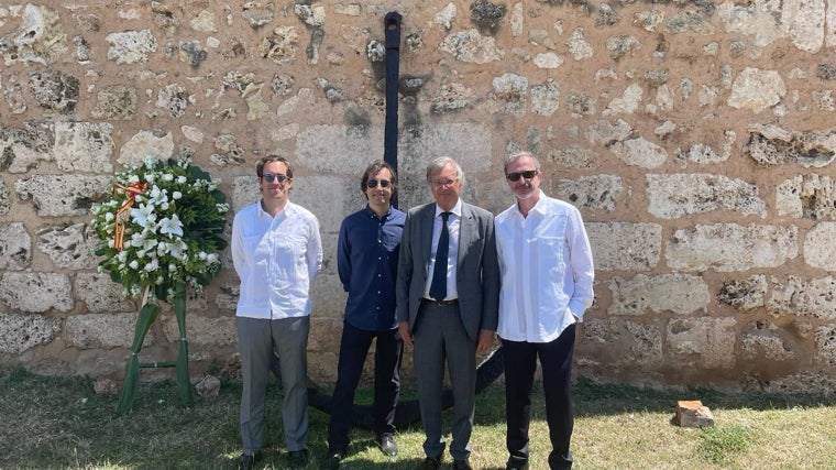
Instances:
[[[277,320],[235,317],[241,351],[241,440],[254,455],[264,441],[270,361],[275,349],[282,370],[282,424],[287,450],[301,450],[308,434],[308,331],[310,317]]]

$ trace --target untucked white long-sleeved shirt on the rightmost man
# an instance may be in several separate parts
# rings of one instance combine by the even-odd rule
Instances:
[[[495,220],[499,255],[501,338],[549,342],[592,305],[592,249],[581,212],[571,204],[540,198],[528,217],[516,204]]]

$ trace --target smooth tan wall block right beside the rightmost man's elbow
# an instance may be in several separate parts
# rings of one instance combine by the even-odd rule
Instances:
[[[659,263],[662,227],[657,223],[586,222],[595,269],[650,271]]]

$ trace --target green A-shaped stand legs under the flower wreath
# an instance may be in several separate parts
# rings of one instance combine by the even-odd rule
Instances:
[[[148,293],[150,286],[146,286],[145,293],[142,296],[142,310],[140,310],[140,315],[136,317],[131,356],[125,364],[124,383],[122,385],[122,394],[119,397],[119,408],[117,409],[119,415],[124,415],[131,411],[136,385],[140,381],[140,369],[143,368],[176,368],[177,394],[180,403],[184,406],[190,406],[195,402],[191,394],[191,383],[189,382],[189,348],[188,341],[186,341],[186,284],[180,282],[175,285],[174,296],[170,300],[174,307],[174,315],[177,317],[177,328],[180,335],[180,349],[176,361],[140,362],[139,354],[140,350],[142,350],[142,342],[145,340],[145,335],[147,335],[151,326],[154,325],[154,320],[160,315],[160,305],[148,302]]]

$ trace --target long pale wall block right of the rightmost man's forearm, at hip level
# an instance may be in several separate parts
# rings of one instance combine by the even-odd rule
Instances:
[[[637,274],[632,280],[613,277],[608,282],[613,303],[608,315],[642,315],[673,311],[679,315],[706,311],[711,295],[702,276],[689,274]]]

